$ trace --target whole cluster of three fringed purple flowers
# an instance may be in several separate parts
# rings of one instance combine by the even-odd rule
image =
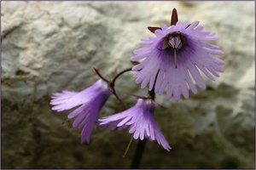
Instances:
[[[52,94],[50,101],[53,111],[66,111],[79,106],[67,117],[72,119],[73,127],[82,129],[81,142],[90,142],[90,134],[95,125],[107,127],[108,129],[118,128],[119,130],[129,127],[129,133],[133,133],[134,139],[157,140],[164,149],[171,150],[164,135],[160,132],[154,120],[154,95],[163,94],[166,90],[166,99],[175,100],[189,98],[189,88],[196,94],[195,84],[204,89],[206,84],[201,77],[201,70],[207,77],[214,81],[214,77],[219,77],[218,72],[223,72],[219,65],[224,65],[224,61],[213,56],[224,54],[216,45],[212,45],[207,40],[217,40],[214,33],[202,31],[203,26],[198,26],[199,21],[192,24],[181,23],[177,20],[177,11],[172,11],[171,26],[162,25],[160,27],[148,26],[156,37],[142,39],[142,48],[134,51],[135,56],[131,61],[137,63],[131,69],[125,71],[137,71],[136,83],[141,83],[141,88],[148,86],[148,96],[137,96],[137,104],[126,111],[122,111],[112,116],[99,118],[102,106],[110,95],[115,94],[114,81],[118,76],[108,81],[102,77],[98,71],[100,79],[90,88],[85,88],[81,92],[70,92],[63,90],[61,93]],[[142,62],[138,62],[143,59]],[[210,74],[212,73],[212,74]],[[190,76],[190,75],[191,76]],[[117,95],[116,95],[117,96]]]

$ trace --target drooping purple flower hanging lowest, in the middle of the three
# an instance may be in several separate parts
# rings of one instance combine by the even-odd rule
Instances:
[[[128,126],[129,133],[134,133],[134,139],[147,138],[149,140],[157,140],[166,150],[171,150],[160,129],[154,121],[155,103],[152,99],[137,99],[137,104],[130,109],[99,119],[100,125],[113,130],[118,127],[119,130]]]

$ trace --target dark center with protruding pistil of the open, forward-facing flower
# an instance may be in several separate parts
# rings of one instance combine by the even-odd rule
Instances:
[[[180,32],[172,32],[164,38],[162,49],[172,50],[174,55],[175,68],[177,68],[177,50],[186,45],[186,37]]]

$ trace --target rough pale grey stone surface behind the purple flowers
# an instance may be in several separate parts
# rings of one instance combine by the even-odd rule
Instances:
[[[224,73],[207,90],[157,108],[156,121],[172,146],[148,142],[144,168],[254,167],[254,3],[253,2],[4,2],[2,3],[2,167],[127,168],[137,141],[122,157],[131,135],[98,131],[80,144],[80,131],[67,113],[50,110],[51,93],[82,90],[129,66],[147,26],[200,20],[216,32],[225,52]],[[143,94],[133,73],[117,81],[127,105],[111,97],[101,116],[123,111]],[[125,82],[125,83],[122,83]],[[130,83],[128,83],[130,82]],[[62,122],[65,122],[64,124]]]

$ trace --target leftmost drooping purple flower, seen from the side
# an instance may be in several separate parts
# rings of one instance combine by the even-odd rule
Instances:
[[[71,112],[67,118],[72,119],[77,116],[73,122],[73,127],[82,128],[82,139],[90,142],[90,134],[95,126],[98,124],[98,115],[105,104],[108,97],[113,94],[113,90],[109,88],[108,82],[102,79],[95,82],[90,88],[85,88],[81,92],[69,92],[63,90],[62,93],[54,93],[51,96],[51,105],[53,111],[66,111],[76,107],[79,108]]]

